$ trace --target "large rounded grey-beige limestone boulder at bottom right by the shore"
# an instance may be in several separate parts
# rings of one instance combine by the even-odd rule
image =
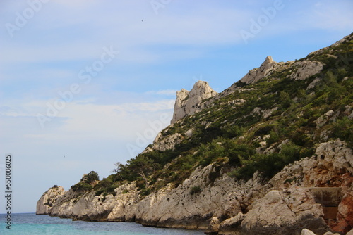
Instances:
[[[328,230],[323,210],[308,189],[270,191],[256,202],[243,222],[244,234],[301,234],[309,228],[320,234]]]

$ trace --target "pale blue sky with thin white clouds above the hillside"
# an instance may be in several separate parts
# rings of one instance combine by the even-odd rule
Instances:
[[[330,46],[352,12],[350,0],[1,0],[0,194],[8,154],[12,212],[91,170],[107,177],[169,125],[177,90],[220,92],[266,56]]]

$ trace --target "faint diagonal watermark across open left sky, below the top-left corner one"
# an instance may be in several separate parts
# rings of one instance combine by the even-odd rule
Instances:
[[[113,46],[110,46],[109,49],[104,46],[100,59],[80,70],[78,72],[78,79],[82,80],[83,84],[90,84],[92,77],[97,77],[99,72],[104,69],[105,65],[111,63],[118,53],[119,51],[115,51]],[[60,98],[56,99],[52,103],[47,102],[46,112],[44,114],[37,113],[36,115],[42,129],[44,128],[44,124],[46,122],[50,122],[52,118],[55,118],[59,114],[60,110],[63,110],[66,107],[67,103],[73,101],[74,95],[77,95],[80,91],[82,91],[83,84],[74,82],[65,91],[58,91]]]

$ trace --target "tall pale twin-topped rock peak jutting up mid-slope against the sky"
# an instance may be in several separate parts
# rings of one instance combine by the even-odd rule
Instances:
[[[205,81],[196,82],[191,91],[186,91],[186,89],[177,91],[177,99],[174,104],[174,114],[171,123],[177,122],[187,115],[197,113],[198,110],[203,108],[201,105],[202,101],[216,94],[217,92]]]

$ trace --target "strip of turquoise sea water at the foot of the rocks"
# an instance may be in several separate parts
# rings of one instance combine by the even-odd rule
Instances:
[[[16,235],[201,235],[202,231],[184,229],[160,229],[143,227],[136,223],[126,222],[84,222],[60,219],[49,215],[35,213],[13,214],[11,230],[6,229],[5,215],[1,215],[0,234]]]

